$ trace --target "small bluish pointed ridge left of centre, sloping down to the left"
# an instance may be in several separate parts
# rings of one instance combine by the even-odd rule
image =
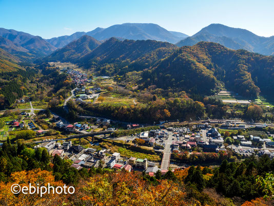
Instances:
[[[48,61],[75,62],[99,45],[101,45],[99,41],[91,36],[84,35],[62,49],[54,51],[45,59]]]

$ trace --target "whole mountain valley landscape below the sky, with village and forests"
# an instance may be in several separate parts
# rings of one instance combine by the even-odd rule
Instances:
[[[0,205],[271,205],[272,43],[220,24],[0,28],[0,190],[76,188]]]

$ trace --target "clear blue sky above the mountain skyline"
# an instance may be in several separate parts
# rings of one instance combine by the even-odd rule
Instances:
[[[123,23],[193,35],[211,23],[274,35],[273,0],[0,0],[0,27],[45,39]]]

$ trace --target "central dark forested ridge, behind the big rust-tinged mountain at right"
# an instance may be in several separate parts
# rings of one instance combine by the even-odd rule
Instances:
[[[136,66],[138,63],[140,63],[140,67],[136,68],[137,70],[147,68],[156,61],[167,57],[175,49],[178,47],[167,42],[120,41],[111,38],[84,55],[77,63],[84,68],[98,68],[103,69],[101,73],[114,74],[124,67],[134,67],[134,64]]]

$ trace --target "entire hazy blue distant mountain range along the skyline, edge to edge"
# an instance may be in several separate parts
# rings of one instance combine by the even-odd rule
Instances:
[[[85,39],[80,40],[83,43],[81,48],[79,42],[69,45],[84,35],[86,35]],[[87,39],[87,36],[93,39]],[[0,48],[14,55],[19,61],[34,61],[48,55],[55,60],[74,61],[112,37],[121,41],[169,42],[178,47],[195,45],[201,41],[215,42],[231,49],[246,49],[264,55],[274,55],[274,36],[265,38],[245,29],[231,28],[221,24],[211,24],[193,36],[188,36],[181,32],[168,31],[156,24],[126,23],[108,28],[98,27],[89,32],[75,32],[48,40],[29,33],[0,28]],[[84,41],[89,42],[84,43]],[[61,51],[55,52],[61,48],[63,48]]]

